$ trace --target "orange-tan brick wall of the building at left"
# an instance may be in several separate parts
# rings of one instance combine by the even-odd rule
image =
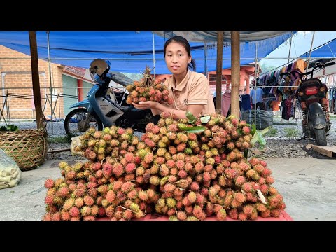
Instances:
[[[6,58],[6,59],[4,59]],[[44,115],[51,114],[50,104],[46,101],[46,93],[50,94],[49,66],[45,60],[38,60],[38,71],[41,87],[42,109],[45,107]],[[52,87],[57,93],[62,93],[62,66],[51,64]],[[34,119],[36,113],[34,109],[33,84],[31,80],[31,60],[29,55],[11,50],[0,45],[0,107],[4,102],[4,90],[8,90],[9,111],[11,119]],[[50,98],[50,95],[48,96]],[[30,99],[29,99],[30,98]],[[59,99],[63,104],[62,99]],[[55,105],[55,102],[53,102]],[[4,111],[6,118],[6,109]],[[63,106],[56,106],[57,117],[64,117]]]

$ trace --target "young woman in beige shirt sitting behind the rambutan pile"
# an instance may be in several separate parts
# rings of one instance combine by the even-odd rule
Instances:
[[[182,36],[174,36],[166,41],[165,61],[172,78],[165,81],[172,105],[147,101],[133,104],[137,109],[151,109],[153,116],[163,111],[174,113],[178,118],[186,118],[186,111],[194,116],[215,113],[214,97],[210,92],[209,80],[202,73],[195,72],[195,60],[190,55],[190,44]],[[193,69],[191,71],[190,69]]]

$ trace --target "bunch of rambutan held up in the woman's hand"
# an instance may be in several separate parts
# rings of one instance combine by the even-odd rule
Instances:
[[[169,97],[169,91],[166,85],[160,80],[154,80],[151,76],[151,70],[146,67],[144,78],[140,81],[134,81],[134,85],[127,85],[127,91],[130,93],[126,99],[127,104],[132,102],[154,101],[160,104],[172,104],[173,99]]]

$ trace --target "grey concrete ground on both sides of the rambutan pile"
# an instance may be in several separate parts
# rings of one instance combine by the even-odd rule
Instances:
[[[294,221],[336,220],[335,158],[267,158],[274,187]],[[0,190],[0,221],[39,221],[45,214],[45,179],[61,177],[58,163],[22,172],[18,186]],[[71,162],[73,163],[73,162]]]

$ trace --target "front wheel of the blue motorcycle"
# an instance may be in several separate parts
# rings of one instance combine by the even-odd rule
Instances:
[[[87,125],[84,125],[87,116],[90,116],[90,121]],[[64,129],[70,138],[82,135],[89,127],[103,130],[103,123],[96,115],[89,115],[86,109],[73,109],[64,120]]]

